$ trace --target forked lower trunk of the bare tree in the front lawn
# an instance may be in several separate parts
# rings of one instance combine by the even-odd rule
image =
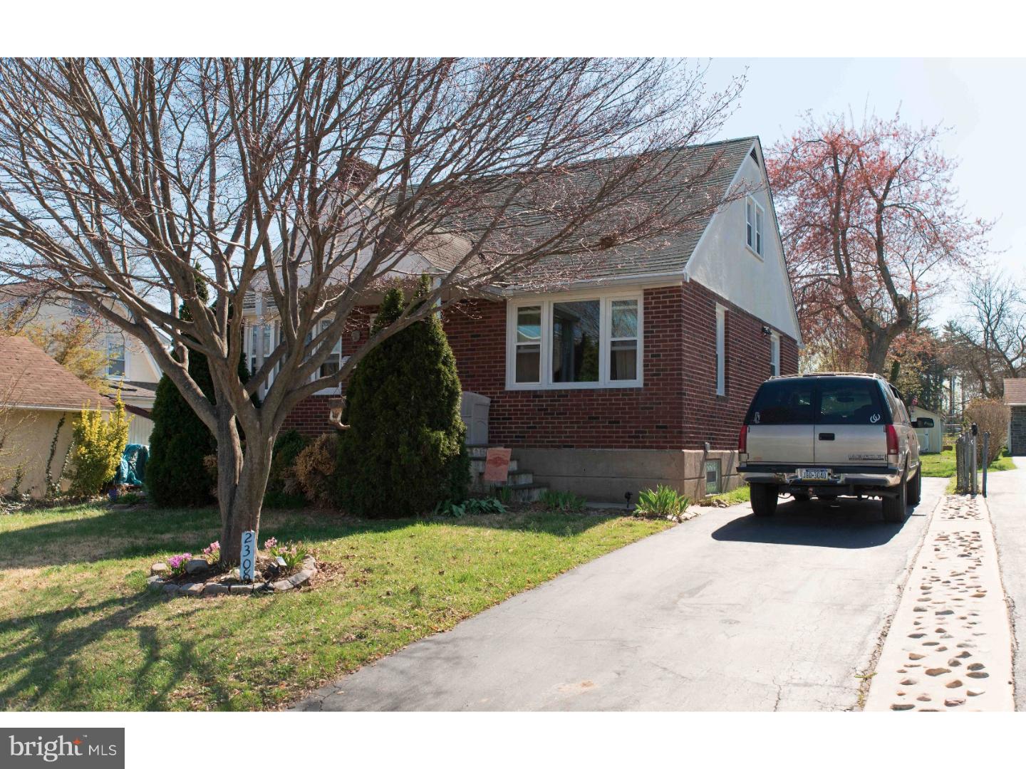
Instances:
[[[227,417],[227,418],[226,418]],[[218,504],[221,508],[221,561],[237,566],[242,532],[260,537],[260,514],[271,472],[273,441],[246,440],[242,451],[238,428],[231,414],[219,414]]]

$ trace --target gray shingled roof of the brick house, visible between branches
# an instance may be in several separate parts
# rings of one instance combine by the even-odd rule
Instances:
[[[712,218],[714,209],[727,193],[727,187],[748,155],[754,137],[729,139],[706,145],[668,151],[675,154],[668,164],[666,183],[653,189],[649,199],[659,196],[679,194],[679,185],[685,178],[701,178],[694,190],[693,199],[684,204],[695,213],[692,226],[672,237],[653,239],[646,244],[635,244],[593,250],[584,253],[559,254],[547,256],[526,268],[524,278],[538,275],[562,276],[573,280],[598,280],[623,278],[632,275],[653,275],[683,272],[687,259],[698,245]],[[568,174],[570,185],[581,184],[584,174],[601,176],[601,169],[606,163],[617,159],[596,161],[579,166]],[[583,184],[589,184],[588,178]],[[526,233],[525,239],[537,239],[551,232],[552,227],[543,216],[536,213],[517,217]],[[473,228],[470,228],[471,233]],[[508,233],[514,237],[513,233]],[[471,235],[472,237],[472,235]],[[448,272],[460,261],[467,241],[463,239],[440,244],[438,248],[423,252],[423,255],[441,271]],[[516,281],[514,281],[516,282]]]

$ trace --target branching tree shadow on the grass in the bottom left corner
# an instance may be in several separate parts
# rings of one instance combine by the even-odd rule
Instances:
[[[175,639],[174,648],[162,647],[158,628],[140,623],[137,617],[155,604],[165,601],[159,596],[142,594],[98,601],[88,606],[69,606],[29,616],[0,621],[0,637],[10,636],[9,651],[0,655],[0,670],[10,672],[10,680],[0,688],[0,709],[35,710],[53,707],[47,701],[57,696],[65,706],[61,710],[119,710],[114,702],[98,702],[89,693],[80,692],[90,686],[90,674],[83,671],[76,655],[93,644],[102,643],[112,632],[131,632],[137,636],[137,648],[143,652],[142,664],[125,671],[133,679],[131,692],[123,693],[123,701],[139,710],[166,710],[169,695],[187,675],[211,689],[218,702],[227,703],[230,692],[218,682],[208,658],[197,652],[202,638]],[[190,599],[181,599],[190,600]],[[198,607],[197,607],[198,609]],[[175,621],[186,621],[195,612],[179,614]],[[83,625],[82,619],[87,621]],[[21,635],[14,640],[13,636]],[[102,657],[94,657],[101,659]],[[155,688],[154,667],[165,663],[160,672],[164,683]],[[130,664],[121,660],[123,664]]]

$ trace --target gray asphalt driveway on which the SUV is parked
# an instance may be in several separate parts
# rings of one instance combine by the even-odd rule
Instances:
[[[945,481],[879,503],[747,505],[578,567],[297,705],[346,711],[830,711],[860,681]]]

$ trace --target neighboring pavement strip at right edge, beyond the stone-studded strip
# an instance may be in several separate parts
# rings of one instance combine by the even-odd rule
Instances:
[[[1026,458],[1016,457],[1016,470],[987,475],[987,505],[994,525],[1001,581],[1008,597],[1016,645],[1013,680],[1017,711],[1026,711]]]

